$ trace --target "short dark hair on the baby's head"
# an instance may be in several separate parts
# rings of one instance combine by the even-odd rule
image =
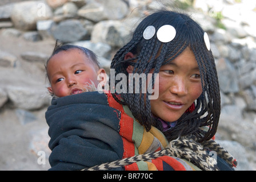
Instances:
[[[71,44],[62,44],[61,42],[59,42],[59,40],[56,40],[55,47],[53,49],[53,53],[51,53],[51,56],[46,61],[46,65],[45,65],[47,77],[48,77],[47,64],[48,64],[49,60],[51,59],[51,57],[53,57],[54,55],[56,55],[57,53],[59,53],[61,51],[67,51],[69,49],[74,49],[74,48],[77,48],[77,49],[81,50],[83,53],[85,53],[85,55],[89,58],[89,60],[92,61],[92,63],[95,65],[95,68],[97,68],[97,69],[100,68],[99,62],[97,59],[97,55],[95,55],[95,53],[93,51],[91,51],[90,49],[87,49],[87,48],[81,47],[81,46],[71,45]]]

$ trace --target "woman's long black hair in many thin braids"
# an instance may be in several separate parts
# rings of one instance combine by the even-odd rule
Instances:
[[[160,42],[156,34],[148,40],[143,38],[143,31],[146,27],[154,26],[157,31],[166,24],[170,24],[176,30],[175,38],[170,42]],[[161,122],[152,117],[148,97],[151,93],[142,93],[141,82],[139,93],[112,93],[115,100],[120,104],[129,106],[134,117],[141,125],[145,126],[147,131],[151,129],[151,126],[157,127],[163,131],[168,140],[193,134],[199,138],[199,142],[211,139],[216,133],[220,114],[219,84],[214,57],[206,47],[203,38],[204,33],[189,15],[162,10],[143,19],[135,29],[130,42],[115,54],[111,68],[115,69],[115,75],[124,73],[127,77],[126,68],[129,65],[134,67],[133,73],[145,73],[147,75],[152,70],[154,70],[153,73],[158,73],[162,65],[174,60],[187,47],[195,55],[201,75],[202,94],[195,101],[195,110],[191,113],[185,112],[178,119],[177,125],[170,130],[163,131]],[[128,52],[133,53],[135,57],[126,60],[125,55]],[[115,80],[115,84],[117,82]],[[154,79],[152,83],[154,84]],[[203,126],[208,126],[206,127],[207,130],[199,129]]]

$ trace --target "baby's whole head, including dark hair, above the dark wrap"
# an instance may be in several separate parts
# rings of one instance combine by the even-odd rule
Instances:
[[[105,69],[100,68],[93,51],[80,46],[59,45],[46,63],[50,94],[64,97],[86,91],[95,91],[106,82]]]

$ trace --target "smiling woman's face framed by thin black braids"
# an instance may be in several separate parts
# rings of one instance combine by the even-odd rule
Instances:
[[[159,97],[150,100],[151,112],[166,122],[177,121],[201,95],[201,76],[190,48],[160,68],[158,89]]]

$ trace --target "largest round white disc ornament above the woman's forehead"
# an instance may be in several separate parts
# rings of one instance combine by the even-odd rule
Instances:
[[[176,36],[176,30],[173,26],[166,24],[160,27],[157,31],[157,38],[163,43],[170,42]]]

